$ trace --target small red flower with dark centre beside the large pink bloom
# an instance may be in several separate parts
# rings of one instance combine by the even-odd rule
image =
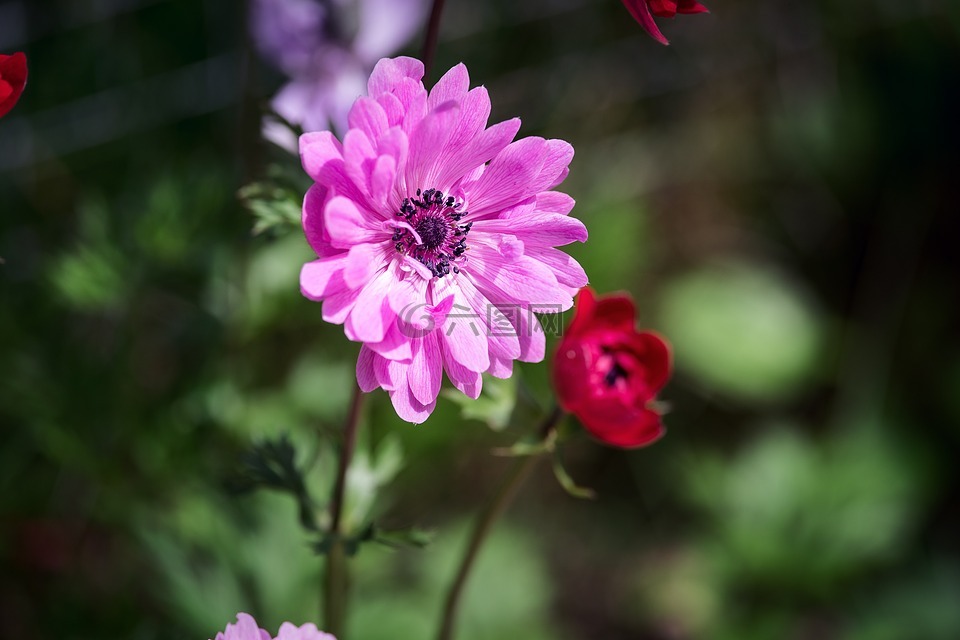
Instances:
[[[560,406],[595,438],[617,447],[643,447],[663,435],[652,403],[670,377],[670,347],[637,331],[626,295],[597,298],[580,290],[573,321],[553,360]]]

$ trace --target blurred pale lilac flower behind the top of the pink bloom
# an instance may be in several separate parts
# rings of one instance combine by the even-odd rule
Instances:
[[[290,77],[273,109],[304,131],[347,129],[347,112],[380,58],[423,26],[425,0],[254,0],[250,31],[260,52]],[[269,139],[296,148],[281,126]]]

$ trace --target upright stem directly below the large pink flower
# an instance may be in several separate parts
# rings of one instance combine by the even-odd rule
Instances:
[[[363,406],[363,392],[359,387],[353,390],[350,413],[343,430],[343,444],[340,447],[340,463],[337,466],[337,480],[333,486],[330,500],[330,549],[327,551],[326,572],[324,576],[323,611],[326,631],[343,640],[347,617],[350,575],[347,566],[347,554],[343,547],[343,506],[347,490],[347,469],[353,459],[357,446],[357,429],[360,425],[360,410]]]

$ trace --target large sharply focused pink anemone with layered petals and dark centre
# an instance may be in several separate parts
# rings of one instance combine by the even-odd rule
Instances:
[[[587,284],[555,248],[587,239],[573,198],[553,190],[573,147],[513,142],[517,118],[487,127],[487,90],[469,88],[463,64],[429,93],[422,77],[419,60],[383,59],[342,143],[329,131],[300,138],[315,181],[303,228],[318,256],[300,289],[363,343],[360,387],[384,389],[414,423],[436,406],[444,371],[476,398],[481,373],[542,360],[534,312],[569,309]]]

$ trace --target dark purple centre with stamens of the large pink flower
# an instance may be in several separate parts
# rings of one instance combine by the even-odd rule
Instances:
[[[444,197],[437,189],[417,189],[416,197],[404,198],[400,203],[397,217],[406,224],[394,230],[394,247],[420,261],[435,278],[442,278],[451,270],[460,273],[454,263],[466,252],[467,234],[473,225],[459,224],[467,215],[460,211],[462,206],[462,202],[453,196]]]

